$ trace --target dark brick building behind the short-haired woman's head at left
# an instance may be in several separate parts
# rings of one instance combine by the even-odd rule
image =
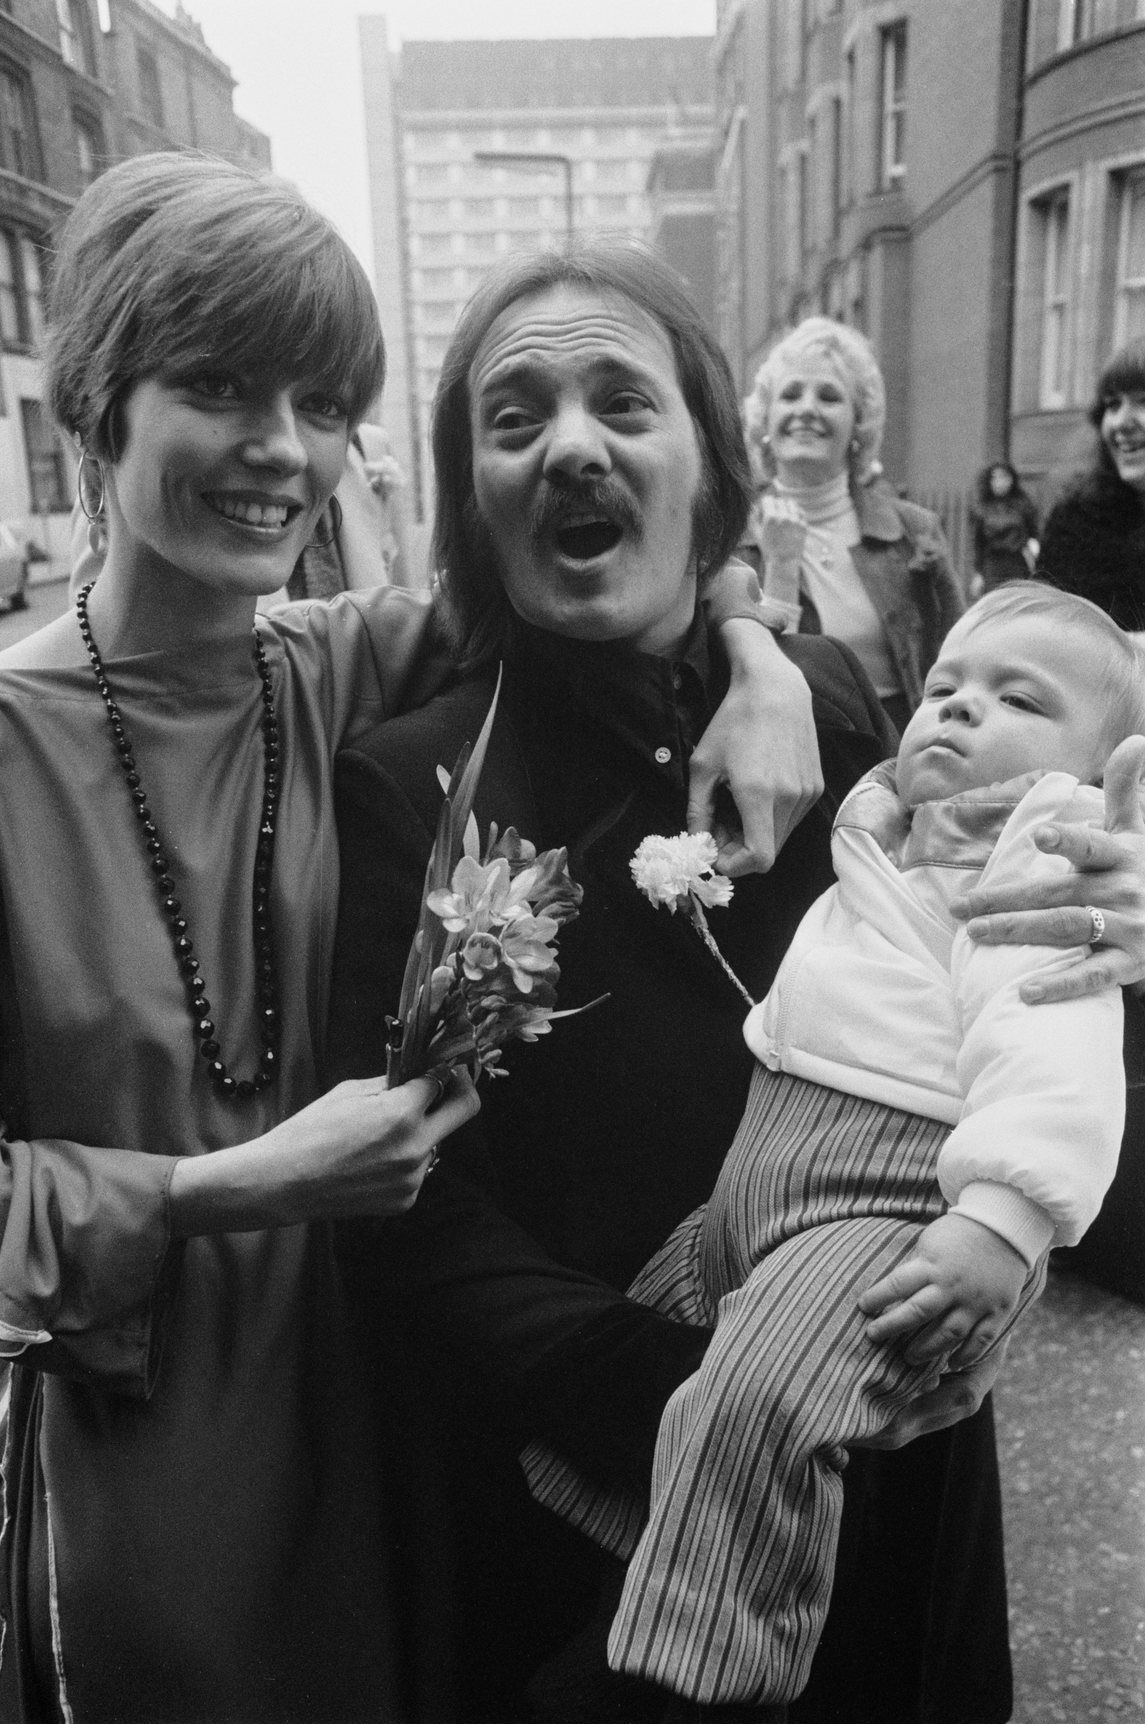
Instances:
[[[179,7],[0,0],[0,519],[57,572],[72,453],[48,422],[38,359],[52,234],[110,162],[202,148],[269,167],[231,107],[235,79]]]

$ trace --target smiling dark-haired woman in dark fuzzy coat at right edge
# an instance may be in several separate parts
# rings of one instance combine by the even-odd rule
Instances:
[[[1040,572],[1081,593],[1123,629],[1145,629],[1145,340],[1123,347],[1097,379],[1090,467],[1050,509]]]

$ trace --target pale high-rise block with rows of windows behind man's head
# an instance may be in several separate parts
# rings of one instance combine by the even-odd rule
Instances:
[[[409,414],[422,512],[429,409],[462,305],[498,257],[560,241],[569,221],[578,233],[650,236],[657,145],[669,128],[688,140],[710,126],[709,48],[702,36],[407,41],[397,69],[379,21],[362,21],[378,288],[405,302],[409,407],[391,364],[386,424],[393,436]],[[383,328],[393,357],[398,322],[385,302]]]

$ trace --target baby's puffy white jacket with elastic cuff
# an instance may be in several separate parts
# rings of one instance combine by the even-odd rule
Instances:
[[[895,764],[855,784],[835,821],[838,884],[807,912],[743,1034],[773,1071],[954,1126],[942,1193],[1033,1267],[1097,1215],[1124,1129],[1121,991],[1026,1005],[1019,986],[1086,946],[986,946],[948,905],[976,884],[1069,869],[1047,821],[1102,824],[1104,798],[1031,772],[910,810]]]

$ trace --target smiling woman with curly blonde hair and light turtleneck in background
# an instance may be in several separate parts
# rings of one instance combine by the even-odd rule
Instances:
[[[964,605],[938,519],[881,478],[886,391],[869,341],[805,317],[759,367],[743,414],[766,479],[764,593],[791,629],[845,641],[902,731]]]

